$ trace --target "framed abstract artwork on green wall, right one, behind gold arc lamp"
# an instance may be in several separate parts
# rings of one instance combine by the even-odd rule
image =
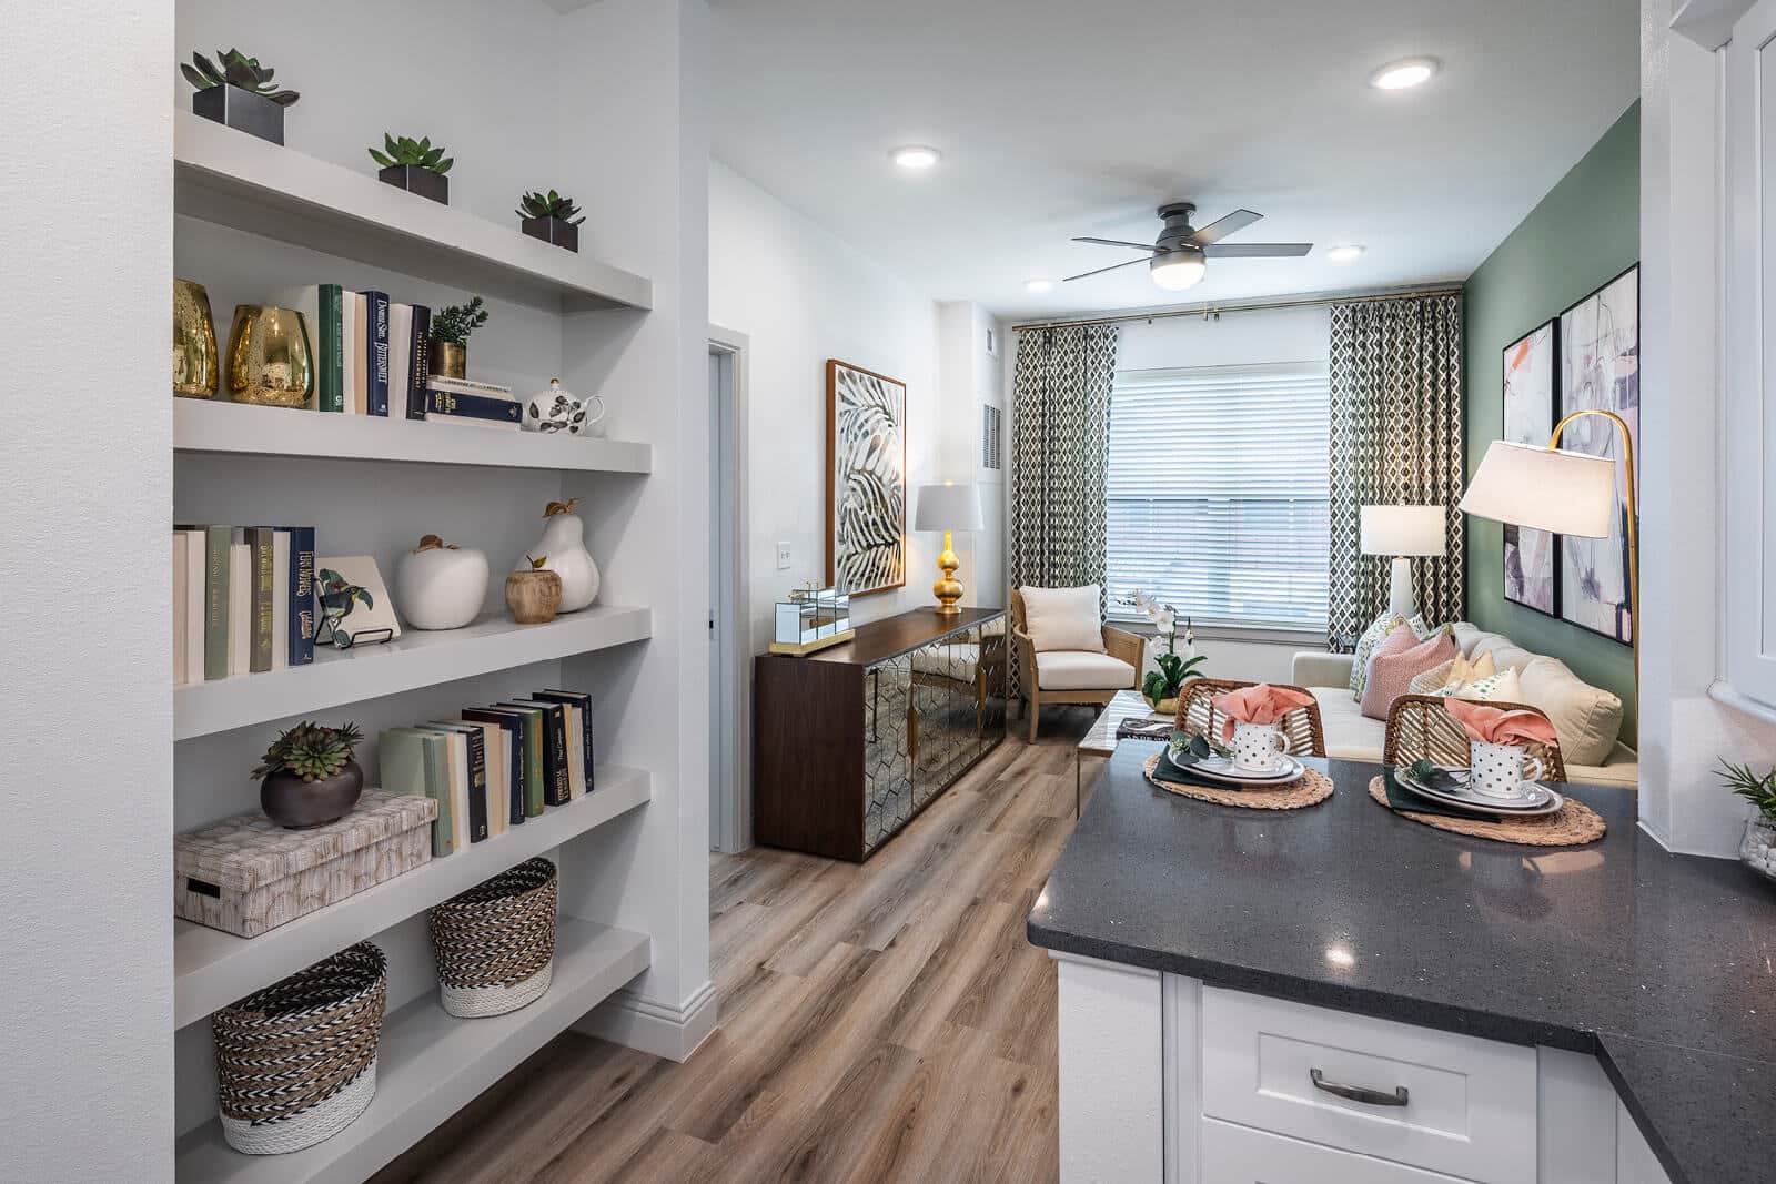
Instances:
[[[1639,264],[1559,314],[1559,414],[1614,412],[1641,451],[1641,272]],[[1574,421],[1561,447],[1618,462],[1609,538],[1561,536],[1559,614],[1582,628],[1634,644],[1629,612],[1629,509],[1621,442],[1597,415]],[[1634,474],[1639,481],[1639,474]]]

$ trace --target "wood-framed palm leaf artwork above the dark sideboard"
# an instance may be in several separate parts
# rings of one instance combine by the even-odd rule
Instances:
[[[906,584],[906,383],[826,362],[826,582]]]

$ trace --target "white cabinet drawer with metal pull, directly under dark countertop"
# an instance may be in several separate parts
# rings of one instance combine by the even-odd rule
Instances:
[[[1382,1104],[1396,1090],[1405,1104]],[[1202,1113],[1483,1184],[1536,1179],[1536,1053],[1515,1044],[1204,987]]]

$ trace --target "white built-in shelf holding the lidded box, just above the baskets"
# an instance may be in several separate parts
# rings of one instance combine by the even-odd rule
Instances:
[[[604,825],[641,806],[652,795],[645,769],[600,765],[599,788],[567,806],[551,806],[536,818],[497,838],[471,843],[392,880],[318,909],[259,934],[236,937],[190,921],[172,923],[172,1022],[197,1022],[259,987],[313,966],[321,959],[380,934],[432,905],[513,868],[531,856]]]

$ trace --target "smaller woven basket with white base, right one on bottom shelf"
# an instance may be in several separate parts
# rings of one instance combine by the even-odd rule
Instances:
[[[444,1010],[503,1015],[538,999],[554,978],[556,868],[526,859],[432,909]]]

